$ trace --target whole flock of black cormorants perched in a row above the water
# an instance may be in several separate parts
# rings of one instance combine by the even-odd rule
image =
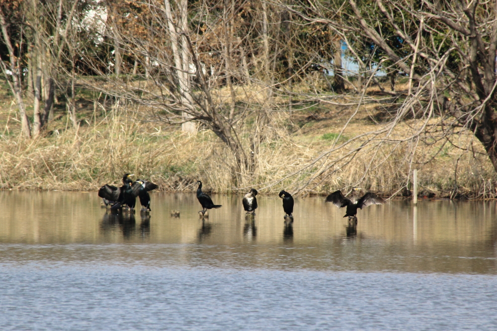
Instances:
[[[137,179],[133,182],[130,177],[133,175],[124,174],[122,181],[123,186],[120,188],[105,184],[98,191],[98,196],[103,199],[106,206],[110,206],[110,209],[123,209],[127,208],[130,211],[134,211],[136,204],[136,197],[140,198],[140,203],[142,205],[141,212],[147,213],[150,209],[150,195],[149,192],[158,189],[159,186],[148,182],[146,180]],[[205,192],[202,192],[202,182],[197,181],[197,199],[202,205],[202,210],[199,211],[201,217],[206,216],[207,209],[220,208],[220,204],[214,204],[211,197]],[[359,188],[352,188],[352,199],[346,198],[340,190],[331,193],[326,197],[326,202],[331,202],[335,206],[342,208],[346,207],[346,213],[343,217],[348,216],[349,224],[357,224],[357,209],[362,209],[371,204],[383,204],[385,199],[372,193],[367,192],[361,198],[356,197],[357,190]],[[257,209],[257,190],[250,189],[244,199],[242,200],[243,206],[247,214],[255,215],[255,209]],[[293,205],[294,200],[290,193],[286,191],[281,191],[278,195],[283,199],[283,211],[285,212],[285,224],[293,223]],[[179,212],[178,212],[179,215]]]

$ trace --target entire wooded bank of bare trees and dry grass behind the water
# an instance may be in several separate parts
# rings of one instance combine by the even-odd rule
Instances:
[[[1,0],[0,186],[494,198],[495,2]]]

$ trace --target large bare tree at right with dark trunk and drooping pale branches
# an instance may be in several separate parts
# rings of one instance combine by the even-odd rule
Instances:
[[[364,179],[374,163],[388,160],[380,157],[386,146],[408,146],[402,149],[408,164],[408,173],[401,179],[406,187],[415,162],[433,159],[426,154],[416,156],[416,150],[425,145],[438,148],[446,141],[469,150],[470,146],[453,141],[463,133],[480,140],[497,171],[496,1],[348,0],[279,5],[307,24],[329,26],[365,74],[359,102],[340,135],[368,101],[366,90],[377,83],[379,70],[400,72],[409,82],[405,91],[392,92],[397,97],[390,99],[390,108],[395,109],[390,121],[342,144],[335,142],[330,150],[289,174],[317,169],[305,182],[296,180],[296,191],[312,190],[367,150],[373,158],[365,167]],[[382,92],[387,93],[384,88]],[[407,118],[416,119],[411,127],[404,125]],[[394,134],[400,124],[410,128],[402,137]]]

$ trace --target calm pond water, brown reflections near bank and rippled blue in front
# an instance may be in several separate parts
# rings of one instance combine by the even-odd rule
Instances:
[[[199,219],[195,194],[150,217],[96,193],[0,191],[1,330],[497,330],[497,202],[358,212],[261,196]],[[170,216],[173,209],[180,217]]]

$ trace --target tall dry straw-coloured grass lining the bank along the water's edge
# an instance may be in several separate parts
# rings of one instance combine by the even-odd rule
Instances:
[[[71,127],[65,105],[59,103],[56,120],[43,136],[26,140],[19,136],[16,107],[5,91],[2,89],[0,95],[3,189],[96,190],[104,183],[118,183],[122,173],[131,172],[157,182],[164,190],[192,190],[192,183],[201,178],[215,191],[226,192],[234,186],[279,180],[295,171],[331,147],[354,111],[353,107],[324,105],[296,110],[291,115],[276,114],[272,131],[266,132],[267,139],[256,153],[255,173],[235,183],[227,170],[232,164],[231,156],[212,132],[200,129],[198,134],[189,135],[161,123],[140,123],[134,113],[124,108],[112,110],[102,96],[95,102],[94,95],[85,92],[77,101],[80,128]],[[378,111],[375,107],[363,107],[338,142],[377,128],[371,117]],[[242,136],[248,137],[248,133],[242,132]],[[467,143],[471,138],[461,135],[459,139]],[[446,145],[430,163],[419,165],[421,194],[483,197],[486,192],[487,197],[493,197],[496,175],[488,158],[478,153],[482,152],[480,144],[475,140],[472,146],[469,152]],[[372,151],[358,154],[332,176],[320,178],[312,192],[327,193],[348,185],[387,195],[397,192],[406,181],[409,167],[401,151],[391,152],[388,148],[382,151],[385,162],[373,164],[366,176],[364,169],[371,166]],[[419,153],[422,155],[418,159],[423,161],[434,149],[421,148]],[[277,192],[296,179],[306,180],[316,169],[265,192]]]

